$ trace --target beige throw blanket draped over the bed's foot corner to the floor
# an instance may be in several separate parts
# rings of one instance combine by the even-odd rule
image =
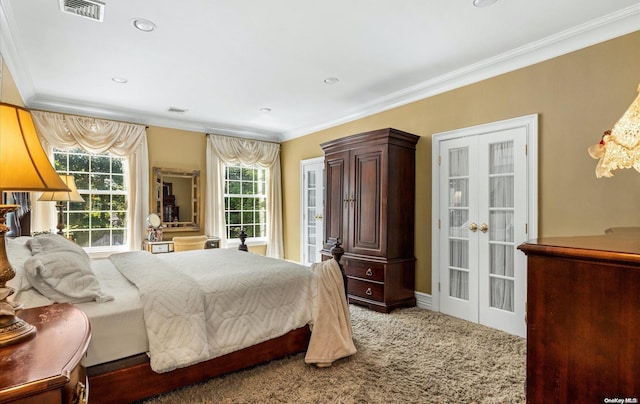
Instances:
[[[327,260],[313,264],[311,270],[317,277],[318,296],[311,340],[304,360],[326,367],[340,358],[355,354],[356,347],[338,263],[333,259]]]

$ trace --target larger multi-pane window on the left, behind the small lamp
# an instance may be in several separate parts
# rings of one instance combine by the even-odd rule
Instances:
[[[64,222],[82,246],[99,249],[127,244],[125,158],[83,149],[54,150],[60,174],[73,175],[84,202],[66,202]]]

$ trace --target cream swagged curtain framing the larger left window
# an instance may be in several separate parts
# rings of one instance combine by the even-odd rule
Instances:
[[[129,193],[128,247],[139,249],[146,237],[146,217],[149,214],[149,154],[145,126],[53,112],[32,111],[31,114],[49,155],[53,148],[81,147],[90,153],[109,152],[125,158],[129,174],[125,179]],[[55,218],[53,206],[39,205],[47,206],[34,209],[36,228],[55,227],[51,226],[51,219]]]

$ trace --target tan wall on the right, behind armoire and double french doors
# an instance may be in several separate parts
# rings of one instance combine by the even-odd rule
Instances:
[[[596,179],[587,148],[635,98],[640,32],[518,71],[375,114],[282,145],[285,254],[300,255],[300,160],[322,155],[320,143],[393,127],[420,135],[416,150],[416,289],[431,293],[431,136],[539,114],[540,236],[597,234],[640,225],[640,175]]]

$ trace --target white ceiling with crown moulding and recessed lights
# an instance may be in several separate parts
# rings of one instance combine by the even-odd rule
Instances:
[[[27,107],[287,140],[640,30],[639,0],[103,1],[0,0]]]

